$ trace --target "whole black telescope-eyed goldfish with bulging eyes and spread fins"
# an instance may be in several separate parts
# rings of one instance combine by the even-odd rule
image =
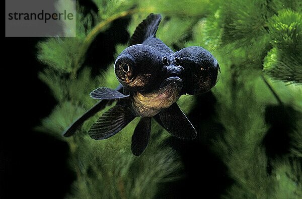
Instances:
[[[152,118],[177,138],[196,138],[195,128],[176,102],[181,95],[209,91],[219,79],[220,67],[214,56],[199,46],[173,52],[156,37],[161,20],[160,14],[150,14],[136,27],[128,47],[114,63],[119,86],[93,90],[90,96],[100,101],[72,123],[63,136],[72,136],[86,120],[117,101],[91,126],[91,138],[110,138],[136,117],[140,121],[131,138],[135,156],[148,145]]]

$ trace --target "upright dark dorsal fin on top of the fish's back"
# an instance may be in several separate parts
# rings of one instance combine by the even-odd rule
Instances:
[[[141,44],[146,39],[155,37],[161,20],[161,15],[150,14],[136,27],[132,37],[129,40],[129,46]]]

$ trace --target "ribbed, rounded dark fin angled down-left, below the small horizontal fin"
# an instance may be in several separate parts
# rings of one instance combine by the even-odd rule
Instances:
[[[121,105],[116,105],[105,112],[90,128],[88,134],[95,140],[109,138],[121,131],[135,116]]]

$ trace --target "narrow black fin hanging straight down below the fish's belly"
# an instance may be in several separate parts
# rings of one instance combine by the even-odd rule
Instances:
[[[139,156],[147,147],[151,132],[151,118],[142,117],[134,129],[131,139],[133,155]]]

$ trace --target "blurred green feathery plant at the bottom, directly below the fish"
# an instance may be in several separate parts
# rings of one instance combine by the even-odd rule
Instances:
[[[181,162],[173,150],[162,149],[163,137],[153,136],[144,155],[132,155],[127,133],[132,128],[102,142],[89,137],[76,140],[79,148],[72,167],[79,168],[80,175],[71,198],[148,198],[157,193],[160,182],[178,178]]]

